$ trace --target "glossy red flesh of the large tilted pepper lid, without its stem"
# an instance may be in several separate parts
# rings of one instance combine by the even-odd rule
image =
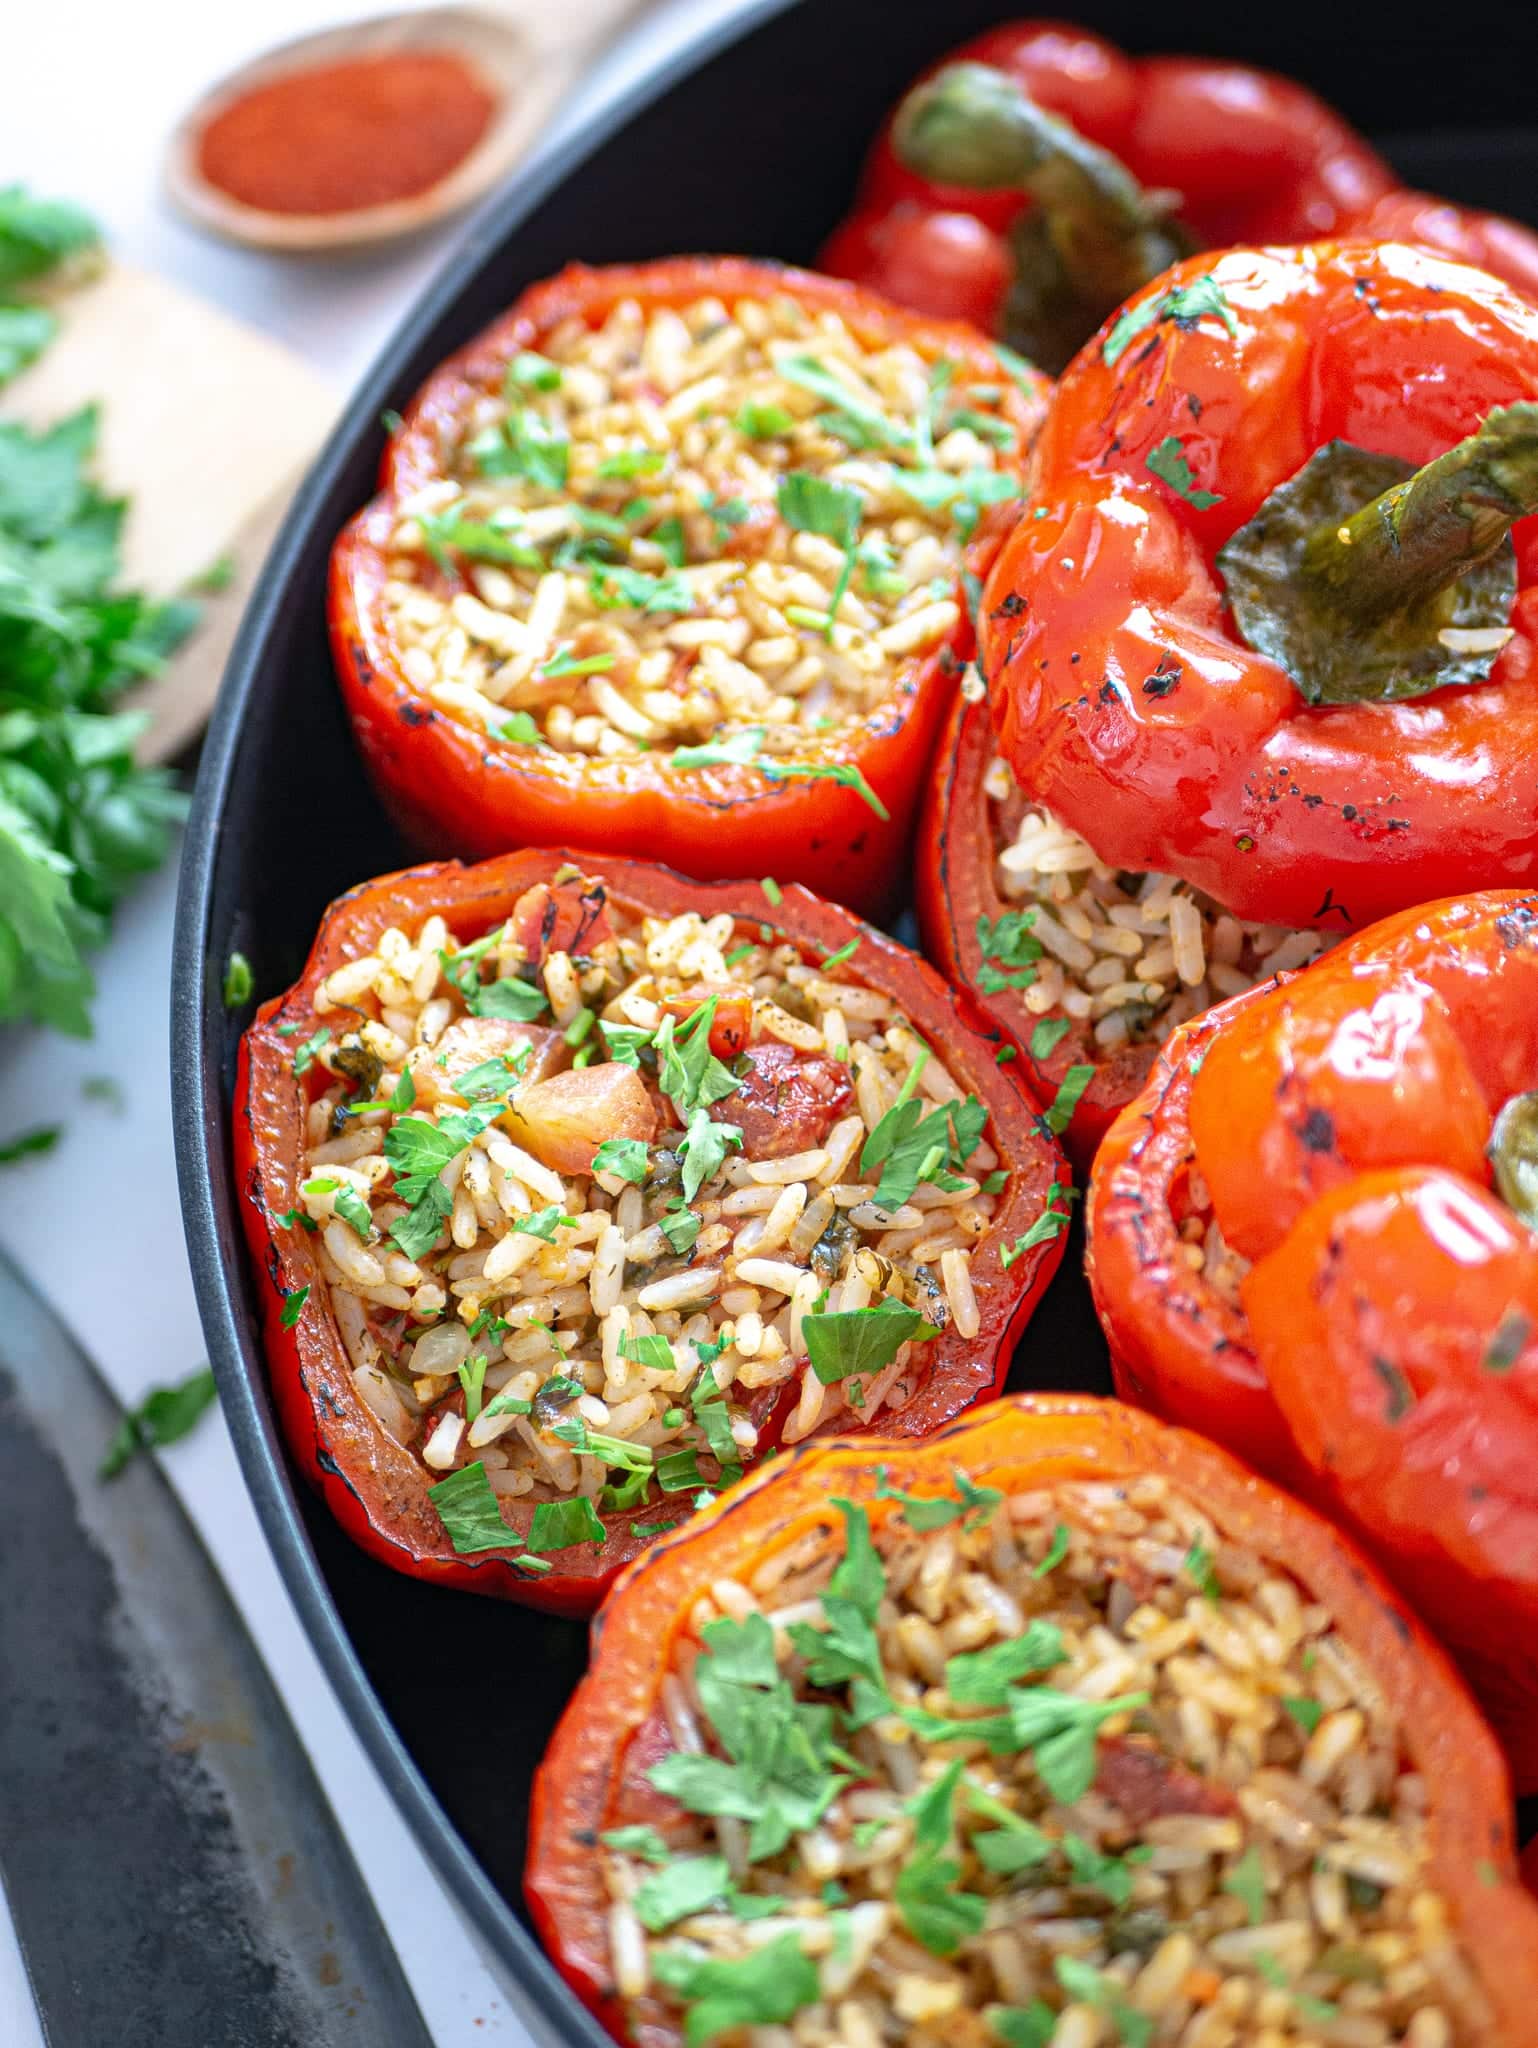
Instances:
[[[1114,866],[1173,870],[1259,922],[1350,930],[1528,881],[1538,522],[1513,528],[1513,637],[1489,680],[1413,702],[1305,705],[1239,639],[1214,555],[1329,440],[1419,465],[1538,395],[1538,311],[1393,244],[1194,258],[1133,307],[1204,274],[1235,332],[1163,317],[1114,365],[1096,338],[1036,442],[1032,514],[979,629],[1018,782]],[[1200,504],[1149,469],[1171,442]]]

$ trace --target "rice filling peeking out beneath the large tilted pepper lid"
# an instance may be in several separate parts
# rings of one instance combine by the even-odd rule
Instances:
[[[1040,956],[1016,969],[1026,1010],[1081,1024],[1098,1053],[1157,1044],[1257,981],[1302,967],[1323,932],[1247,924],[1173,874],[1126,874],[1040,805],[993,760],[983,788],[995,831],[993,883],[1022,905]],[[1034,952],[1034,946],[1030,948]],[[1006,969],[1008,971],[1008,969]]]

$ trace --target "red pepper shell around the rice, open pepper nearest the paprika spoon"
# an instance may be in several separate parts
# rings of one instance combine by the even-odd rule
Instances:
[[[442,442],[481,393],[502,387],[514,354],[539,350],[563,322],[598,326],[621,299],[676,307],[702,297],[729,305],[784,295],[836,313],[864,342],[907,342],[928,358],[948,356],[1001,381],[1022,444],[1034,432],[1046,379],[1026,379],[1022,389],[999,379],[997,358],[979,336],[805,270],[690,256],[604,270],[573,266],[530,287],[426,381],[385,449],[379,496],[332,553],[330,623],[342,698],[375,786],[424,852],[479,858],[578,840],[604,854],[666,860],[688,874],[805,881],[864,911],[897,899],[924,766],[971,655],[965,606],[948,645],[897,670],[893,698],[844,731],[807,733],[801,750],[807,762],[860,768],[891,813],[885,821],[854,788],[827,778],[770,782],[758,768],[731,762],[674,768],[666,754],[606,760],[492,739],[444,717],[408,680],[383,621],[395,504],[442,475]]]

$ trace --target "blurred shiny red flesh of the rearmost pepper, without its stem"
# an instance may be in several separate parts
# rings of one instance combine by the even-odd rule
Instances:
[[[1173,188],[1202,248],[1415,240],[1538,295],[1538,236],[1403,188],[1378,152],[1292,78],[1219,57],[1128,57],[1057,20],[989,29],[932,70],[956,61],[995,66],[1110,150],[1139,184]],[[993,334],[1012,272],[1006,231],[1022,205],[1016,190],[934,184],[907,170],[889,121],[821,264],[915,311]]]

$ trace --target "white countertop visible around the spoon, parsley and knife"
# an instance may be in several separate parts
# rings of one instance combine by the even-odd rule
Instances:
[[[575,123],[698,29],[741,6],[743,0],[659,0],[592,66],[555,125]],[[156,166],[162,137],[207,80],[258,47],[348,12],[365,8],[317,0],[264,0],[252,10],[207,0],[137,0],[113,8],[55,0],[29,8],[23,33],[10,39],[12,90],[0,137],[0,184],[25,180],[84,201],[125,256],[303,350],[336,381],[338,403],[442,260],[453,229],[403,252],[338,264],[285,262],[225,248],[180,225],[156,190]],[[205,1356],[170,1141],[172,911],[174,862],[125,905],[98,958],[92,1042],[0,1034],[0,1139],[39,1122],[66,1126],[51,1155],[0,1174],[0,1243],[53,1300],[127,1403],[156,1382],[180,1378]],[[82,1083],[98,1075],[119,1083],[121,1110],[82,1094]],[[96,1243],[88,1290],[72,1284],[70,1255],[51,1227],[53,1200],[68,1196],[78,1214],[82,1190],[90,1210],[113,1219],[111,1233]],[[522,2048],[526,2032],[375,1778],[301,1634],[223,1421],[205,1421],[166,1454],[166,1468],[289,1704],[438,2048]],[[0,2042],[43,2044],[2,1896]],[[166,2048],[219,2044],[166,2042]]]

